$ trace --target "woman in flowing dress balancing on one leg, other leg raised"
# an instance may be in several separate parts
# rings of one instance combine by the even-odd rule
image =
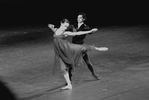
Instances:
[[[54,25],[48,24],[48,27],[54,31],[54,51],[55,56],[57,56],[61,63],[61,70],[63,72],[64,78],[67,82],[65,87],[62,89],[72,89],[72,84],[69,78],[68,69],[69,67],[75,68],[79,61],[81,60],[83,54],[91,50],[106,51],[106,47],[95,47],[91,45],[79,45],[73,44],[66,40],[67,36],[89,34],[91,32],[98,31],[97,28],[91,29],[89,31],[79,31],[79,32],[69,32],[66,29],[69,27],[69,21],[63,19],[59,28],[54,28]],[[55,62],[55,61],[54,61]],[[71,66],[68,66],[71,65]],[[54,66],[55,67],[55,66]]]

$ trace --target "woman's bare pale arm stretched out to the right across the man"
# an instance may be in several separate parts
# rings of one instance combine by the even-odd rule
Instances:
[[[98,31],[98,29],[97,28],[93,28],[92,30],[89,30],[89,31],[79,31],[79,32],[69,32],[69,31],[66,31],[63,34],[64,35],[69,35],[69,36],[75,36],[75,35],[89,34],[89,33],[96,32],[96,31]]]

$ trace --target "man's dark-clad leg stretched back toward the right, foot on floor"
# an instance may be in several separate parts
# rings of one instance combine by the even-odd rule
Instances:
[[[88,69],[91,71],[92,75],[99,80],[100,77],[98,75],[95,74],[94,69],[92,67],[92,63],[89,61],[89,57],[87,55],[87,53],[84,54],[83,59],[85,61],[85,63],[87,64]]]

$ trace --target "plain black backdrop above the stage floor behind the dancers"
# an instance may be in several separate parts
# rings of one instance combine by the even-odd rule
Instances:
[[[0,27],[59,25],[63,18],[75,23],[79,12],[90,26],[142,25],[148,8],[143,0],[1,0]]]

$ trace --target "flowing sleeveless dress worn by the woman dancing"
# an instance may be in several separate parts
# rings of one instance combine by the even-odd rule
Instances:
[[[66,40],[65,35],[54,34],[54,51],[55,51],[55,61],[54,70],[57,72],[56,64],[57,61],[62,61],[66,66],[61,66],[61,70],[68,70],[69,67],[74,69],[78,63],[81,61],[84,53],[90,50],[95,50],[95,46],[90,45],[78,45],[70,43]],[[62,68],[63,67],[63,68]],[[59,67],[60,68],[60,67]]]

